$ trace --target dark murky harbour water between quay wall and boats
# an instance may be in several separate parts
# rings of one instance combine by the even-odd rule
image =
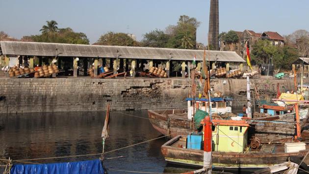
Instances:
[[[147,118],[147,111],[123,112]],[[14,160],[82,155],[102,152],[105,112],[65,112],[0,115],[0,158]],[[110,113],[110,138],[105,152],[160,137],[148,119]],[[105,154],[107,169],[163,173],[188,169],[166,167],[160,146],[165,138]],[[33,162],[51,163],[99,158],[71,157]],[[108,171],[110,174],[126,173]]]

